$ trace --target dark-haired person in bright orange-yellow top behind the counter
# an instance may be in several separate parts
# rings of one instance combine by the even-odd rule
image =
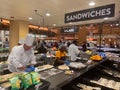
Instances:
[[[55,67],[64,64],[66,60],[66,47],[61,46],[59,50],[56,51],[55,57],[56,57],[54,62]]]

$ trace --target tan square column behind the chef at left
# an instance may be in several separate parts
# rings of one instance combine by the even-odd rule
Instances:
[[[12,47],[18,44],[19,39],[24,39],[29,32],[28,21],[16,20],[10,21],[9,46]]]

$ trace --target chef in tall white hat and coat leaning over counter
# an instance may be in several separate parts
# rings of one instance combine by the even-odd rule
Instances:
[[[8,57],[8,69],[11,72],[22,72],[28,70],[27,65],[36,64],[32,44],[34,35],[27,34],[23,45],[16,46]]]

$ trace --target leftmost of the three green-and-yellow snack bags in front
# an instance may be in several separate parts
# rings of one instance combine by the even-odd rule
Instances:
[[[11,83],[11,90],[19,90],[21,87],[21,81],[18,76],[9,79]]]

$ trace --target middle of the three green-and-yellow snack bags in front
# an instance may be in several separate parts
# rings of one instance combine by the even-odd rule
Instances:
[[[32,78],[30,73],[21,74],[19,75],[19,77],[22,81],[22,84],[25,90],[32,85]]]

